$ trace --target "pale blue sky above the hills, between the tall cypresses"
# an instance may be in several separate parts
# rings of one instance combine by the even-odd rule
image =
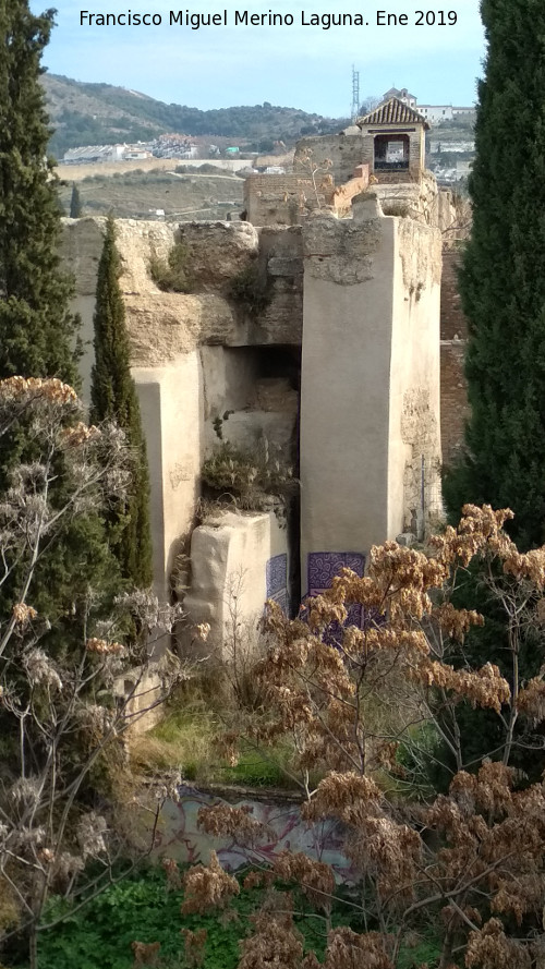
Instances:
[[[55,0],[53,0],[55,2]],[[384,8],[380,4],[385,4]],[[47,7],[32,0],[36,12]],[[455,26],[415,26],[414,9],[455,10]],[[360,71],[360,93],[382,95],[392,85],[409,87],[421,104],[471,104],[482,73],[483,31],[477,0],[446,3],[398,0],[57,0],[57,27],[45,64],[77,81],[106,82],[167,102],[196,108],[274,105],[340,117],[350,112],[352,64]],[[234,11],[293,14],[291,27],[169,26],[169,11]],[[377,26],[376,11],[409,15],[408,26]],[[159,13],[160,26],[80,26],[80,11]],[[302,26],[311,13],[363,13],[368,27],[324,31]]]

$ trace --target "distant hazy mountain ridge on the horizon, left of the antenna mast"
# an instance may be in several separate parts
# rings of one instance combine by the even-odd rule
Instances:
[[[166,105],[124,87],[85,84],[58,74],[44,74],[43,83],[55,130],[50,150],[57,158],[80,145],[150,141],[167,132],[244,140],[254,150],[270,150],[270,142],[293,143],[303,135],[327,134],[347,124],[347,119],[307,114],[267,101],[201,111]]]

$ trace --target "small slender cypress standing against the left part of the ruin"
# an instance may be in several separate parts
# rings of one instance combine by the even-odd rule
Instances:
[[[122,576],[138,586],[149,585],[152,538],[149,475],[136,388],[131,376],[130,346],[123,298],[119,286],[120,258],[116,227],[108,218],[98,265],[95,306],[95,365],[92,373],[90,420],[112,420],[125,432],[132,450],[132,484],[124,502],[110,516],[110,547]]]

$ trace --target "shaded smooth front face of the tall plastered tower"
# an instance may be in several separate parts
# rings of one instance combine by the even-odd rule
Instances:
[[[396,220],[379,219],[373,199],[362,209],[361,221],[325,216],[305,226],[313,255],[308,271],[305,264],[301,375],[303,594],[311,552],[365,554],[388,530]],[[342,232],[341,261],[332,240]]]

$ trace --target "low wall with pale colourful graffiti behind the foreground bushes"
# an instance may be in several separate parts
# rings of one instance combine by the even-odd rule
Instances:
[[[214,849],[223,868],[237,871],[247,864],[249,856],[233,838],[211,838],[199,831],[197,814],[201,808],[221,803],[222,799],[182,785],[180,801],[168,801],[161,813],[156,851],[175,861],[195,864],[209,860]],[[225,801],[223,801],[225,803]],[[279,800],[240,800],[234,807],[249,804],[252,816],[264,825],[264,836],[252,848],[261,863],[270,863],[280,851],[304,851],[311,858],[330,864],[338,882],[352,883],[355,873],[342,853],[343,832],[334,820],[308,824],[301,819],[300,808]]]

